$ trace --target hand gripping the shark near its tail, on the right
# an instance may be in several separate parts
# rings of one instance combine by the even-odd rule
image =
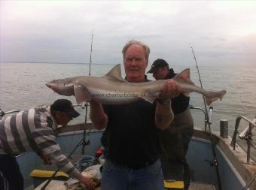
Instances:
[[[168,99],[175,98],[181,94],[181,86],[175,80],[169,79],[164,83],[163,91],[157,96],[157,98]]]

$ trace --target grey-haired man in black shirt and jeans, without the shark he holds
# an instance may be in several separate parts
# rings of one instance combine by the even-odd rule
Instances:
[[[123,47],[126,80],[145,82],[149,48],[139,41]],[[90,101],[90,118],[98,129],[108,128],[108,147],[102,173],[102,190],[163,190],[160,143],[157,131],[168,128],[173,119],[169,98],[180,94],[174,80],[166,80],[157,102],[139,100],[110,105]]]

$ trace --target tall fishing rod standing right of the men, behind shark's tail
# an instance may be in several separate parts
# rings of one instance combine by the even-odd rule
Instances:
[[[196,55],[194,53],[194,49],[193,49],[191,44],[190,44],[190,48],[192,50],[192,53],[194,55],[194,60],[195,60],[196,65],[197,65],[197,58],[196,58]],[[201,77],[200,77],[200,71],[199,71],[198,65],[197,65],[197,73],[198,73],[198,77],[199,77],[200,86],[203,89],[203,83],[202,83],[202,80],[201,80]],[[218,180],[218,190],[222,190],[221,177],[220,177],[220,173],[219,173],[219,170],[218,170],[218,160],[217,160],[217,155],[216,155],[216,143],[213,140],[212,130],[211,130],[213,107],[210,107],[209,113],[208,113],[208,110],[207,110],[207,107],[206,107],[206,99],[205,99],[204,96],[203,96],[203,103],[204,103],[204,107],[205,107],[205,110],[202,109],[203,113],[205,113],[205,131],[206,131],[206,126],[208,125],[210,140],[211,140],[211,146],[212,146],[213,161],[211,161],[211,163],[214,164],[214,166],[215,166],[215,171],[216,171],[217,180]]]

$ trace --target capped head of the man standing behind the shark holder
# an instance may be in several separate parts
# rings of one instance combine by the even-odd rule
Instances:
[[[152,73],[156,80],[163,80],[169,74],[169,65],[165,60],[157,59],[151,65],[148,73]]]

